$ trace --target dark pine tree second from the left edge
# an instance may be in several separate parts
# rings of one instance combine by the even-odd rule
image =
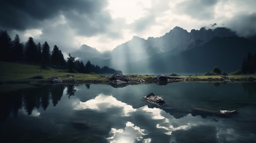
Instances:
[[[13,59],[15,61],[23,60],[23,45],[20,43],[20,36],[18,34],[16,34],[12,42],[12,51]]]

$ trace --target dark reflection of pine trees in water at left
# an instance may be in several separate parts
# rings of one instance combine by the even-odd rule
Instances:
[[[10,113],[13,113],[14,117],[16,117],[18,110],[22,109],[22,107],[29,115],[32,114],[35,108],[39,109],[42,107],[43,110],[46,110],[49,106],[50,99],[52,99],[53,106],[56,106],[58,101],[61,100],[64,88],[64,85],[58,85],[56,87],[45,85],[37,88],[3,93],[0,101],[0,121],[4,121]]]

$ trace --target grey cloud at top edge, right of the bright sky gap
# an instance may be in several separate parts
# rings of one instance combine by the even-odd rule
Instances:
[[[214,18],[217,0],[185,0],[175,5],[174,13],[189,15],[198,20]]]

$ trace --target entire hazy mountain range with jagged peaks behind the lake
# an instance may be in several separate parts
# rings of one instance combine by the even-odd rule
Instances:
[[[111,52],[82,45],[71,53],[84,63],[109,66],[126,74],[205,73],[219,66],[227,73],[241,68],[248,52],[256,53],[255,38],[238,37],[225,27],[188,32],[178,26],[161,37],[133,36]]]

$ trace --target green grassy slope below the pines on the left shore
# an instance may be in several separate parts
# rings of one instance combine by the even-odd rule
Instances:
[[[67,73],[66,70],[49,68],[41,69],[39,65],[27,63],[13,63],[0,61],[0,82],[4,81],[38,81],[42,79],[31,79],[31,77],[42,75],[44,79],[56,76],[61,80],[71,79],[64,77],[65,75],[74,75],[72,79],[76,80],[91,80],[99,79],[100,81],[108,81],[108,76],[93,75],[83,73]]]

